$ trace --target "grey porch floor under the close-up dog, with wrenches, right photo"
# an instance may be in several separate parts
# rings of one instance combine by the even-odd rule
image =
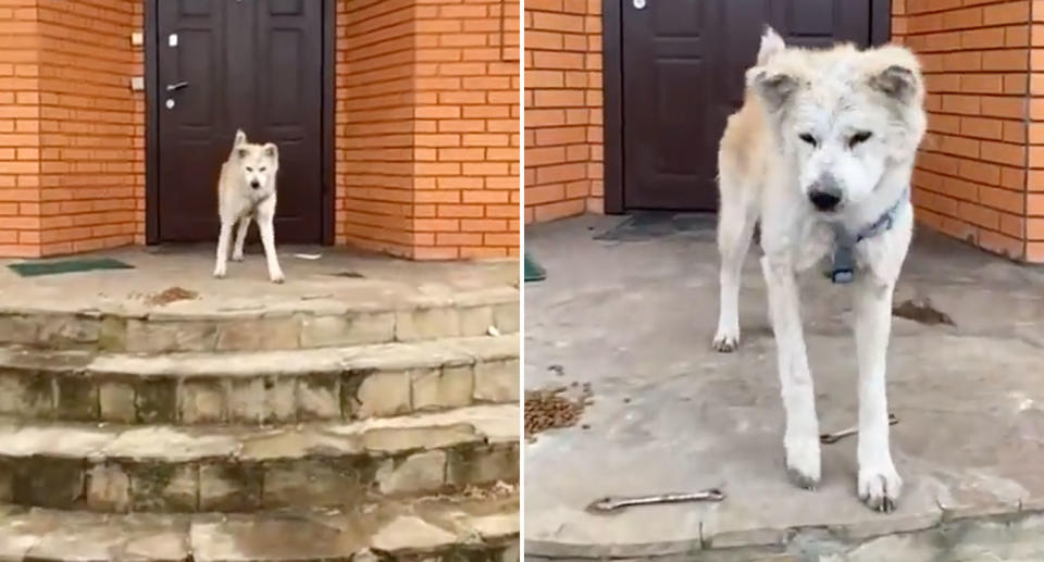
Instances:
[[[525,287],[525,388],[589,383],[594,400],[588,428],[525,445],[527,558],[1044,560],[1044,270],[917,233],[896,302],[930,298],[954,325],[894,319],[892,450],[905,488],[885,515],[856,498],[855,438],[823,446],[818,491],[786,479],[759,250],[744,271],[741,348],[717,353],[712,221],[594,239],[621,221],[526,229],[548,277]],[[847,427],[847,289],[811,275],[801,303],[821,429]],[[728,498],[584,511],[609,495],[707,487]]]

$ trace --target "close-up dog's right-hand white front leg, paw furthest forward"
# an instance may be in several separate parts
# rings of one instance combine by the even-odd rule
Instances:
[[[884,378],[895,284],[867,272],[855,289],[855,336],[859,359],[859,499],[872,510],[892,511],[903,488],[903,479],[895,471],[888,448],[888,399]]]

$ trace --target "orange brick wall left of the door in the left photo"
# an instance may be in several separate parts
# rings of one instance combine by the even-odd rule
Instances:
[[[0,9],[0,255],[111,248],[144,230],[144,100],[129,89],[142,14],[140,0]]]

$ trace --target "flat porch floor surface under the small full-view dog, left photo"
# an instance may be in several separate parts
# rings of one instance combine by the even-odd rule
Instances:
[[[518,294],[518,260],[411,262],[346,248],[278,248],[287,282],[268,280],[260,246],[246,250],[244,262],[228,262],[228,274],[215,279],[213,245],[123,248],[54,258],[114,258],[133,270],[20,277],[0,260],[0,310],[98,311],[103,313],[192,314],[336,311],[410,303],[446,305],[462,300],[501,300]],[[320,255],[309,260],[296,254]],[[185,289],[194,298],[167,303],[153,297]]]

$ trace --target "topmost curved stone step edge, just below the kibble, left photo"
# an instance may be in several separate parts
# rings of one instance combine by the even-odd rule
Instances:
[[[157,308],[133,299],[91,308],[70,299],[8,304],[0,308],[0,345],[129,353],[263,351],[519,332],[517,288],[378,296],[227,307],[201,300]]]

